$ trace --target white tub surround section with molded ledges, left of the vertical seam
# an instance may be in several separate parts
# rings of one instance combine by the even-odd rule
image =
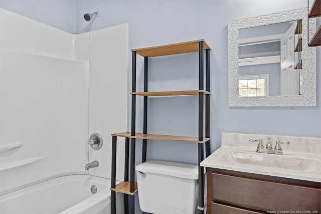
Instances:
[[[85,173],[88,146],[79,142],[88,130],[88,56],[72,57],[69,33],[4,9],[0,16],[3,195],[57,175]]]

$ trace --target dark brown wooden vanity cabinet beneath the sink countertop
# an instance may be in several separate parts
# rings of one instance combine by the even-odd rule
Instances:
[[[321,213],[319,182],[207,168],[208,213]]]

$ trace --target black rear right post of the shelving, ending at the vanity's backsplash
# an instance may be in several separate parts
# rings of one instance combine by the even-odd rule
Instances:
[[[210,84],[210,49],[206,49],[206,91],[210,92],[211,84]],[[205,95],[205,137],[210,138],[210,99],[211,95]],[[205,153],[206,157],[210,156],[211,154],[211,141],[207,141],[205,143]]]

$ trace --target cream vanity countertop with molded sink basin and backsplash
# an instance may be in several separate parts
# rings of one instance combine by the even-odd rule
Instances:
[[[265,147],[268,137],[273,148],[276,140],[290,144],[281,145],[283,154],[265,154],[256,152],[257,143],[249,142],[262,139]],[[201,165],[321,182],[320,144],[321,138],[222,133],[222,146]]]

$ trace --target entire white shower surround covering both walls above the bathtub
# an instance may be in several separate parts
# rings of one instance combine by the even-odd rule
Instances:
[[[109,179],[110,134],[127,128],[128,25],[73,35],[0,10],[0,202],[64,175]]]

